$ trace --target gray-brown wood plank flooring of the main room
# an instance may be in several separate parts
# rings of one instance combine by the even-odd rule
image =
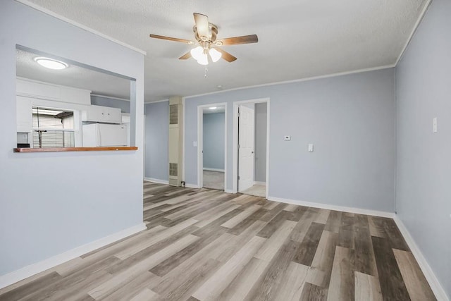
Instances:
[[[435,300],[392,219],[145,182],[144,221],[0,300]]]

